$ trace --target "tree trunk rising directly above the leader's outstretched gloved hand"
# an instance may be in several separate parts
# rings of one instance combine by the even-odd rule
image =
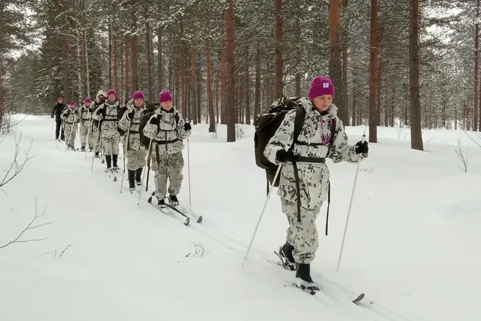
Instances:
[[[369,142],[377,143],[377,0],[371,0],[370,78],[369,78]]]

